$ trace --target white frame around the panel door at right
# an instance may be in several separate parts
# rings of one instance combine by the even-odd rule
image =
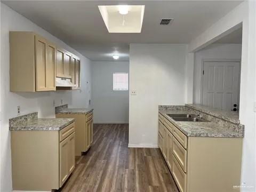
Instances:
[[[202,59],[201,62],[201,85],[200,85],[200,103],[203,105],[203,82],[204,82],[204,76],[203,76],[203,70],[204,70],[204,62],[238,62],[239,63],[239,74],[238,74],[238,109],[240,104],[240,84],[241,84],[241,59]]]

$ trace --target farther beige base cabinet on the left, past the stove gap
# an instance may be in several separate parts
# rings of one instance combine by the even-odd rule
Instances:
[[[93,141],[93,112],[89,114],[56,114],[56,118],[74,118],[75,119],[75,155],[81,156],[92,145]]]

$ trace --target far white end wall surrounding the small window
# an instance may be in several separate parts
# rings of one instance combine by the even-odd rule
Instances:
[[[129,91],[113,91],[113,73],[129,73],[129,62],[92,62],[94,123],[128,123],[129,121]]]

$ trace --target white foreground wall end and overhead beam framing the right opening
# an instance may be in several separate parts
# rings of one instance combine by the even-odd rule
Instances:
[[[197,51],[227,33],[235,30],[243,23],[241,83],[240,83],[240,110],[239,119],[245,125],[242,179],[242,191],[256,190],[255,166],[255,119],[254,103],[256,101],[256,68],[255,68],[255,41],[256,41],[256,2],[245,1],[230,11],[225,17],[214,23],[201,35],[198,35],[190,44],[189,51]],[[227,32],[228,31],[228,32]],[[253,188],[246,188],[253,187]]]

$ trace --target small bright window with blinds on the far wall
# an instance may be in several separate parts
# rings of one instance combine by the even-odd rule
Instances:
[[[113,90],[128,90],[128,74],[127,73],[113,74]]]

